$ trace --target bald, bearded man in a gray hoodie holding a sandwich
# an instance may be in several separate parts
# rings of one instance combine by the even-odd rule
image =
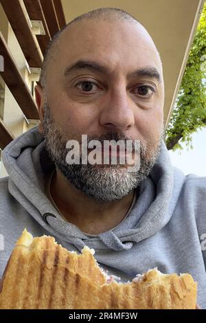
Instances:
[[[38,129],[3,152],[9,176],[0,181],[1,273],[26,227],[69,250],[95,249],[102,267],[122,280],[153,267],[189,272],[204,307],[206,179],[185,177],[170,164],[163,71],[148,32],[115,8],[78,17],[54,38],[35,91]],[[82,147],[82,135],[101,144],[132,141],[134,162],[139,140],[139,168],[118,158],[117,164],[67,162],[67,143]],[[106,152],[97,152],[104,159]]]

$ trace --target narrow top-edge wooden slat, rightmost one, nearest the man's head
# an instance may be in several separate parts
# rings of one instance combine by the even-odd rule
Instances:
[[[43,8],[43,12],[45,15],[45,19],[47,21],[47,26],[49,28],[49,33],[51,37],[53,37],[56,32],[60,30],[60,26],[58,23],[58,17],[56,15],[56,10],[54,7],[53,0],[40,0],[41,6]]]

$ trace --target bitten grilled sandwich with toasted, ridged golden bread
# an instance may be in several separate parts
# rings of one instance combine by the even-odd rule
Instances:
[[[150,269],[131,282],[108,276],[94,250],[69,252],[54,237],[23,231],[1,280],[0,309],[195,309],[190,274]]]

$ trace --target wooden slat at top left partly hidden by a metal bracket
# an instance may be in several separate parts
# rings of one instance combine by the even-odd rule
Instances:
[[[27,14],[30,17],[30,20],[41,20],[43,23],[45,35],[36,35],[36,38],[41,48],[41,52],[44,55],[45,50],[47,49],[47,45],[51,40],[51,36],[49,34],[49,29],[47,26],[45,15],[43,13],[43,8],[41,7],[41,3],[39,0],[23,0],[23,2],[25,4],[25,8],[27,10]]]

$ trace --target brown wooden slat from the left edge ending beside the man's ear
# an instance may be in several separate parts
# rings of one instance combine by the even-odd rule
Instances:
[[[10,53],[8,45],[5,43],[0,32],[0,55],[4,59],[4,71],[0,71],[5,84],[8,86],[19,107],[27,119],[39,119],[38,109],[25,80],[21,76],[19,69]]]

